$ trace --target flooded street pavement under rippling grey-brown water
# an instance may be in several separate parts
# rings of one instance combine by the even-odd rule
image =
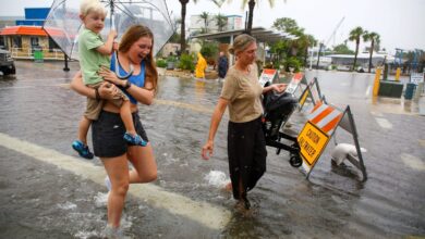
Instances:
[[[0,238],[99,238],[107,189],[98,159],[71,149],[85,99],[68,84],[77,68],[16,62],[0,76]],[[268,148],[267,173],[250,192],[253,210],[235,209],[229,179],[227,121],[215,155],[199,156],[221,89],[215,80],[163,77],[139,115],[158,163],[158,180],[132,185],[123,228],[132,238],[410,238],[425,236],[425,117],[403,99],[373,99],[373,75],[306,72],[328,102],[350,105],[368,180],[350,163],[330,163],[331,140],[309,180]],[[298,133],[306,113],[291,117]],[[227,120],[227,116],[224,116]],[[90,140],[90,138],[89,138]],[[338,142],[353,143],[337,131]]]

